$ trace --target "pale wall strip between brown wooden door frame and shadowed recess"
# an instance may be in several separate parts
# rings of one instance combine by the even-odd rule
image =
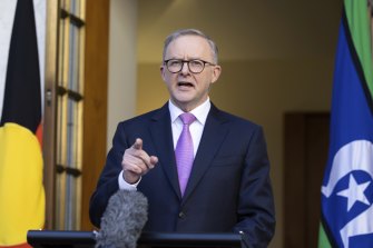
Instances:
[[[109,29],[107,149],[117,123],[135,115],[137,1],[111,0]]]

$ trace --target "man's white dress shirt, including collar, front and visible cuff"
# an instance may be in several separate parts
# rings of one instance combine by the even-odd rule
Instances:
[[[192,139],[193,139],[193,149],[194,149],[195,157],[198,150],[202,133],[204,132],[204,127],[205,127],[206,119],[207,119],[210,108],[212,108],[212,103],[208,98],[204,103],[202,103],[200,106],[198,106],[197,108],[190,111],[190,113],[193,113],[196,117],[196,120],[189,125],[189,131],[190,131]],[[184,113],[184,111],[179,109],[177,106],[175,106],[170,100],[168,101],[168,109],[169,109],[170,119],[171,119],[173,140],[174,140],[174,150],[175,150],[177,140],[179,139],[179,136],[181,135],[181,130],[183,130],[183,121],[179,118],[179,116]],[[136,190],[136,187],[140,182],[140,180],[134,185],[130,185],[125,181],[122,173],[124,171],[121,171],[118,177],[119,189]]]

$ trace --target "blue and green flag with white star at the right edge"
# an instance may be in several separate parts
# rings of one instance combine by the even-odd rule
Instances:
[[[366,0],[344,0],[318,247],[373,247],[373,66]]]

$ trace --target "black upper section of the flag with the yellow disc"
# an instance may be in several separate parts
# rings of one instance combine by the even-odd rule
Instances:
[[[40,120],[40,72],[33,3],[32,0],[18,0],[0,126],[16,122],[35,133]]]

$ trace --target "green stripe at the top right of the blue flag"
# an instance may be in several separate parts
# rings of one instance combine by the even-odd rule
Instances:
[[[364,70],[367,88],[373,98],[373,62],[367,1],[344,0],[344,8],[352,40]]]

